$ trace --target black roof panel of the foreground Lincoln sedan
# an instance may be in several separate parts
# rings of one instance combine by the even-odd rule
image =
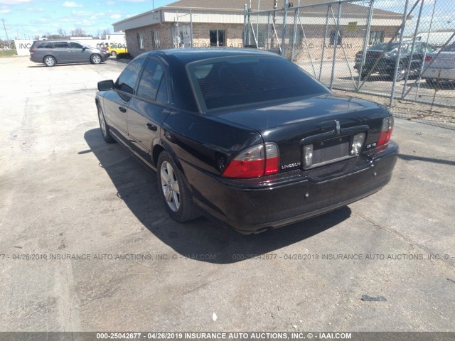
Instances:
[[[173,57],[181,61],[183,64],[188,64],[197,60],[205,60],[210,58],[221,58],[221,57],[235,57],[242,55],[262,55],[269,57],[282,58],[276,53],[266,52],[255,49],[245,48],[205,48],[205,49],[183,49],[176,48],[172,50],[155,50],[144,53],[143,55],[166,55]]]

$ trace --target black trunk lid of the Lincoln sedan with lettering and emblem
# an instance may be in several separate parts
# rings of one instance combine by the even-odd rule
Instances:
[[[259,131],[264,142],[277,144],[280,172],[325,166],[353,158],[356,134],[365,134],[361,148],[374,148],[382,121],[390,114],[380,104],[324,94],[294,102],[219,112],[219,119]],[[306,148],[314,160],[305,166]]]

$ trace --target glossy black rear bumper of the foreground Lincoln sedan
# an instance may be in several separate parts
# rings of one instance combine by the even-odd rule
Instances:
[[[301,171],[266,182],[229,180],[182,166],[196,206],[211,219],[248,234],[315,217],[377,192],[390,181],[397,154],[391,141],[368,165],[328,180]]]

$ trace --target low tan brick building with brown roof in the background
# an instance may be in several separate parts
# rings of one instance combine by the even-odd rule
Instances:
[[[245,2],[250,3],[249,0],[180,0],[118,21],[113,24],[114,31],[124,31],[129,53],[134,57],[147,50],[168,48],[241,48],[245,34]],[[368,7],[355,3],[342,4],[341,36],[336,41],[334,32],[338,3],[331,6],[331,11],[322,3],[326,3],[326,0],[304,1],[305,5],[314,6],[299,10],[299,18],[294,16],[293,10],[289,11],[292,14],[287,18],[287,26],[294,27],[295,23],[296,29],[287,30],[285,42],[294,39],[296,45],[301,47],[294,54],[294,59],[305,59],[308,46],[316,56],[323,47],[331,48],[334,43],[344,47],[339,49],[339,54],[347,53],[350,57],[362,48]],[[270,10],[274,6],[274,0],[251,1],[253,14],[250,23],[247,23],[248,30],[245,31],[248,35],[245,37],[247,45],[267,50],[280,48],[280,30],[284,23],[282,12],[273,18],[272,25],[268,13],[254,14],[258,5],[261,11]],[[277,8],[283,6],[284,0],[279,0]],[[390,39],[401,23],[402,13],[375,9],[368,44]]]

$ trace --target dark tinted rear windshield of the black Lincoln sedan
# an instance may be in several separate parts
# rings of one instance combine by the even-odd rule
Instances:
[[[189,64],[188,72],[203,111],[329,92],[294,63],[276,57],[203,60]]]

